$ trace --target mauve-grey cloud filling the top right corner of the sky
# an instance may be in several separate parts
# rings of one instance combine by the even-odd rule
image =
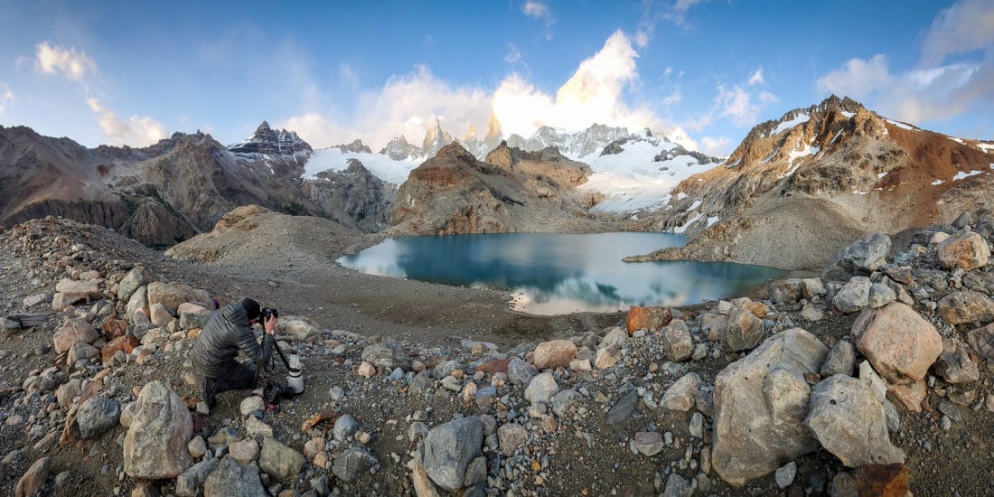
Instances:
[[[934,66],[949,55],[990,51],[994,44],[994,3],[963,0],[935,16],[921,47],[921,65]]]

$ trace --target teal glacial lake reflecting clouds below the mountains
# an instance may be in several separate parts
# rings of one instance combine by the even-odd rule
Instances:
[[[731,262],[621,261],[684,244],[683,237],[665,233],[409,237],[338,262],[370,274],[508,289],[517,310],[547,315],[694,304],[741,295],[783,274]]]

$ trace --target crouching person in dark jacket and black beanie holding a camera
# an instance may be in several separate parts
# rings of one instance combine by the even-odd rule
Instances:
[[[256,364],[271,361],[276,329],[274,312],[263,322],[262,343],[255,341],[251,326],[262,319],[258,302],[246,298],[214,312],[193,344],[193,363],[204,377],[204,402],[214,408],[215,396],[230,390],[255,388],[255,371],[235,360],[239,351]]]

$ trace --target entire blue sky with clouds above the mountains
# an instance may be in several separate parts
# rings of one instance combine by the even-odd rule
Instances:
[[[994,138],[994,2],[22,2],[0,0],[0,124],[87,146],[263,119],[374,149],[434,118],[462,136],[649,126],[709,153],[835,92]]]

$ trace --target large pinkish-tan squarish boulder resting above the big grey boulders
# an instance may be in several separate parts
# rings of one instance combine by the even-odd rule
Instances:
[[[942,337],[935,327],[901,302],[864,310],[853,324],[852,336],[874,369],[899,385],[924,378],[942,353]]]

